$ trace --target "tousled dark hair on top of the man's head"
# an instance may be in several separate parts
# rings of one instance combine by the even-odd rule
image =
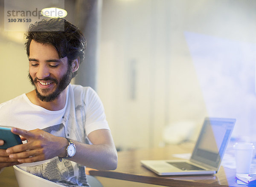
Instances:
[[[86,40],[80,29],[63,18],[44,19],[35,24],[31,24],[26,36],[26,53],[29,57],[29,47],[32,40],[38,43],[47,43],[55,47],[59,58],[67,57],[69,65],[72,61],[80,57],[80,62],[84,59]],[[77,71],[73,73],[75,77]]]

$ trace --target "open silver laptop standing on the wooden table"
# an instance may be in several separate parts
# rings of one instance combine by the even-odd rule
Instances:
[[[142,160],[160,176],[215,174],[221,164],[236,119],[205,118],[189,160]]]

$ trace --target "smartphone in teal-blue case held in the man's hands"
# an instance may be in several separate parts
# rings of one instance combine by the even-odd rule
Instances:
[[[0,126],[0,139],[4,141],[4,144],[0,146],[0,149],[7,149],[18,144],[22,144],[20,136],[11,132],[10,127]]]

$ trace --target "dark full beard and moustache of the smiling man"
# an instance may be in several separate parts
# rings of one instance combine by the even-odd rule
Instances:
[[[35,77],[35,79],[33,80],[33,78],[31,77],[31,75],[28,75],[30,83],[35,87],[35,91],[36,91],[36,95],[38,97],[38,99],[40,99],[43,102],[51,102],[55,99],[58,98],[58,96],[61,94],[62,91],[65,90],[65,88],[67,88],[67,86],[70,84],[71,79],[72,79],[72,67],[69,65],[68,66],[68,70],[67,73],[64,74],[63,77],[61,77],[60,81],[58,82],[57,79],[51,78],[51,77],[47,77],[45,79],[38,79],[37,77]],[[36,88],[35,84],[39,81],[52,81],[55,83],[55,85],[57,86],[57,88],[55,89],[55,91],[53,91],[52,94],[49,94],[47,96],[43,96],[38,92],[38,89]],[[40,84],[40,83],[39,83]],[[45,89],[41,89],[42,93],[47,94],[47,92],[49,91],[49,88],[45,88]]]

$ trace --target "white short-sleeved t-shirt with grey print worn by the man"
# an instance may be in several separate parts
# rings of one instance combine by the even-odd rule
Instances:
[[[26,94],[0,104],[0,125],[25,130],[42,129],[55,136],[90,144],[87,136],[98,129],[108,129],[99,96],[90,87],[69,85],[65,107],[49,111],[34,105]],[[53,159],[17,165],[21,169],[50,181],[88,186],[85,167],[68,159]]]

